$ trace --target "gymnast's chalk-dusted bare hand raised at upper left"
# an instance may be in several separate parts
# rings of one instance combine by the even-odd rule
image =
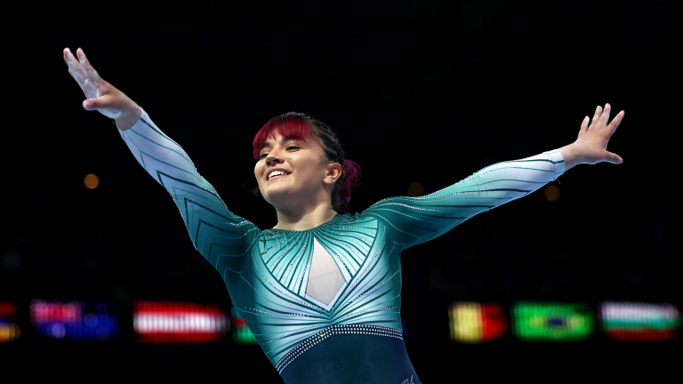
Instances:
[[[140,119],[141,108],[124,92],[102,80],[82,49],[78,48],[76,55],[77,60],[71,50],[64,49],[68,73],[76,80],[87,98],[83,101],[83,108],[97,110],[104,116],[116,119],[119,129],[125,130],[133,126]]]

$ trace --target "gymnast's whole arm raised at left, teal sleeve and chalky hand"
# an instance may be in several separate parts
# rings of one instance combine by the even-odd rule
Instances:
[[[161,132],[133,100],[103,81],[82,50],[76,53],[78,60],[65,49],[64,60],[88,98],[84,108],[116,120],[135,159],[173,197],[197,251],[226,281],[230,271],[241,273],[242,258],[259,229],[229,212],[181,146]]]

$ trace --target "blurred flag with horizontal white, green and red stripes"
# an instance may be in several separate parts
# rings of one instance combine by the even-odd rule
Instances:
[[[603,332],[617,341],[666,341],[680,326],[679,310],[672,304],[606,301],[599,306]]]

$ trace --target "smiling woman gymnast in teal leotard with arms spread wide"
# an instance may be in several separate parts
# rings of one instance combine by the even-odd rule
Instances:
[[[261,230],[230,212],[185,151],[103,81],[83,51],[77,55],[64,51],[88,97],[84,108],[115,118],[286,383],[419,383],[401,328],[401,252],[542,188],[576,164],[622,162],[607,152],[607,141],[623,112],[607,124],[607,104],[591,124],[584,118],[566,147],[493,164],[427,196],[391,197],[342,213],[358,165],[344,159],[325,124],[285,114],[253,141],[254,176],[277,210],[277,226]]]

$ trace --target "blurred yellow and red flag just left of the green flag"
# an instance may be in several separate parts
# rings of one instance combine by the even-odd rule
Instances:
[[[479,343],[500,338],[508,330],[508,321],[499,304],[456,301],[448,311],[451,340]]]

